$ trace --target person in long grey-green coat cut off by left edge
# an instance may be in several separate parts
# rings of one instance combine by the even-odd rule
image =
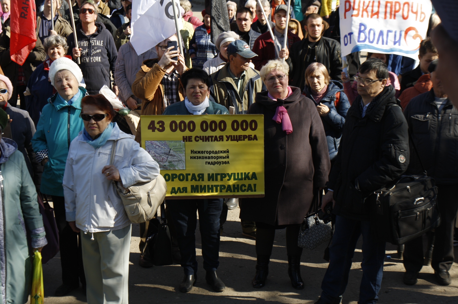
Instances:
[[[0,109],[0,134],[7,119]],[[32,258],[26,231],[34,250],[41,251],[47,241],[35,185],[16,142],[0,135],[0,303],[27,303]]]

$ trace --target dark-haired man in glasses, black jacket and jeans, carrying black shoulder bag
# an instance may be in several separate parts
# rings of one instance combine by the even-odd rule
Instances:
[[[408,124],[387,84],[388,69],[368,59],[359,69],[358,93],[347,112],[322,210],[334,205],[335,233],[318,304],[337,304],[347,287],[354,249],[363,238],[363,277],[358,303],[375,304],[382,284],[385,242],[371,231],[366,198],[387,186],[409,165]],[[352,299],[354,300],[354,299]]]

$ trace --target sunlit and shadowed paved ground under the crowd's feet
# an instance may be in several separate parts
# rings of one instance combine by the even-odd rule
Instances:
[[[255,241],[241,235],[238,219],[240,209],[229,211],[228,221],[224,225],[221,237],[220,266],[218,274],[227,285],[226,291],[214,293],[205,283],[202,269],[200,234],[196,235],[197,258],[199,262],[198,282],[190,293],[180,293],[178,286],[183,277],[179,265],[145,269],[137,265],[138,225],[132,229],[131,267],[129,276],[129,298],[131,304],[143,303],[222,303],[235,304],[241,301],[270,303],[314,303],[321,289],[321,280],[327,263],[322,259],[326,244],[313,251],[304,250],[302,254],[302,277],[305,289],[298,291],[291,287],[287,274],[288,261],[285,248],[285,231],[278,230],[269,268],[267,286],[261,289],[251,287],[255,273]],[[198,229],[196,230],[198,231]],[[344,294],[344,304],[356,304],[361,280],[362,260],[361,243],[355,250],[354,263],[350,272],[349,286]],[[395,256],[396,248],[387,246],[387,255]],[[458,250],[456,252],[458,254]],[[458,256],[458,255],[457,255]],[[435,283],[431,267],[423,267],[420,279],[415,286],[402,283],[403,266],[399,260],[387,259],[383,277],[380,301],[382,304],[437,304],[458,303],[458,265],[452,268],[453,284],[438,286]],[[59,256],[43,266],[44,294],[46,304],[82,304],[86,303],[82,289],[79,288],[66,297],[54,297],[55,289],[60,285]]]

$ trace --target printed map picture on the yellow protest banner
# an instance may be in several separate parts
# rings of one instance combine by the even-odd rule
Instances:
[[[185,143],[181,140],[147,140],[145,150],[161,170],[185,170]]]

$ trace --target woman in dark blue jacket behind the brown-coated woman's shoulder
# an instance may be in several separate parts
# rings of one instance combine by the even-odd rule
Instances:
[[[331,80],[323,64],[314,62],[305,70],[305,87],[302,93],[315,103],[326,133],[327,149],[331,162],[337,156],[345,117],[350,107],[344,86]]]

